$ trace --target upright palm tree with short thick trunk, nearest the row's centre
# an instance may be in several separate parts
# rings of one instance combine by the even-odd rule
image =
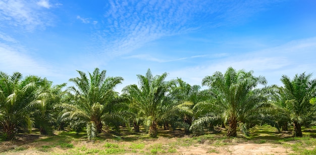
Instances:
[[[148,69],[145,76],[137,75],[137,77],[139,87],[132,84],[124,87],[122,91],[134,102],[140,115],[144,116],[144,125],[149,126],[149,136],[156,137],[157,123],[164,115],[164,99],[168,90],[168,84],[165,81],[167,73],[152,76]]]

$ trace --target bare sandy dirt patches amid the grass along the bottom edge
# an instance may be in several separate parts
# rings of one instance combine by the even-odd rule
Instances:
[[[26,135],[26,137],[18,137],[16,141],[2,142],[0,147],[1,154],[68,154],[67,149],[60,147],[54,147],[48,152],[39,151],[38,147],[42,145],[49,145],[49,142],[38,142],[36,139],[45,138],[39,135]],[[154,144],[164,144],[164,142],[176,142],[177,138],[158,138],[157,140],[141,140],[140,143],[145,143],[146,146]],[[120,145],[128,146],[131,142],[120,141]],[[210,144],[212,142],[205,141],[204,143],[197,143],[190,146],[176,146],[177,152],[175,153],[157,153],[157,154],[289,154],[292,151],[288,148],[284,148],[282,144],[274,143],[262,143],[256,144],[251,142],[241,142],[228,144],[223,146],[214,146]],[[87,142],[77,141],[73,142],[74,147],[85,146],[87,148],[101,148],[104,143],[101,142]],[[24,150],[10,151],[16,147],[23,147]],[[9,150],[9,151],[5,151]],[[93,153],[92,153],[93,154]],[[123,153],[123,154],[146,154],[141,152]]]

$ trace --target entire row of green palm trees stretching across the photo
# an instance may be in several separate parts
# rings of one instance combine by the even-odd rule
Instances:
[[[186,134],[203,133],[214,126],[227,127],[227,136],[237,136],[237,129],[249,134],[254,125],[270,124],[279,130],[293,126],[293,135],[302,136],[301,126],[315,122],[316,80],[302,73],[290,79],[281,77],[283,86],[267,86],[262,76],[253,71],[236,71],[229,67],[225,74],[215,72],[191,86],[181,78],[166,81],[167,73],[137,75],[138,85],[115,91],[122,77],[106,76],[96,68],[93,73],[78,71],[79,77],[52,85],[37,76],[22,77],[0,72],[0,133],[3,140],[16,133],[38,128],[41,134],[65,127],[85,130],[89,139],[102,132],[103,126],[119,129],[143,126],[150,137],[157,128],[183,128]]]

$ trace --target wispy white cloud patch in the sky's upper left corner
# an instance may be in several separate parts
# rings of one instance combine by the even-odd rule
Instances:
[[[0,1],[0,26],[22,27],[27,31],[44,29],[51,25],[51,18],[43,7],[50,8],[48,1]]]

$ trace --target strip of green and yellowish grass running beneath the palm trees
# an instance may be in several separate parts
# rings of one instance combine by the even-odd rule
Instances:
[[[180,131],[160,130],[159,134],[162,133],[163,136],[159,138],[149,138],[144,132],[129,134],[130,131],[121,131],[118,135],[111,132],[101,134],[91,141],[87,140],[85,132],[62,131],[54,136],[35,140],[32,145],[33,149],[48,154],[181,154],[183,150],[192,147],[204,149],[206,153],[229,154],[231,145],[253,143],[282,147],[287,150],[287,154],[316,154],[316,127],[304,128],[304,136],[298,138],[293,137],[291,132],[279,133],[276,128],[269,125],[253,127],[250,136],[244,136],[239,132],[235,138],[225,136],[225,131],[217,134],[183,134],[182,137],[173,137],[175,132],[178,134]],[[17,145],[2,154],[17,151],[23,153],[31,149],[28,145]]]

